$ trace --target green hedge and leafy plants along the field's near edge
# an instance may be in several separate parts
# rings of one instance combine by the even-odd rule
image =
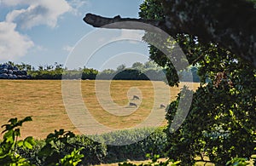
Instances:
[[[161,152],[166,149],[166,134],[163,129],[154,128],[119,130],[89,136],[74,135],[70,131],[60,129],[49,134],[45,140],[33,140],[32,137],[27,137],[18,141],[20,126],[31,120],[31,117],[20,121],[12,118],[9,120],[10,124],[3,125],[6,129],[3,131],[5,133],[3,140],[0,140],[1,165],[113,163],[127,159],[145,159],[148,153],[161,154],[160,157],[164,157]],[[124,142],[127,145],[122,146]]]

